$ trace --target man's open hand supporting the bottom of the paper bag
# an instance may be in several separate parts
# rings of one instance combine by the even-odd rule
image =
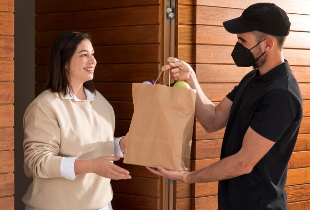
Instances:
[[[148,168],[152,173],[158,176],[162,176],[165,178],[169,178],[169,179],[173,179],[173,180],[181,181],[185,183],[192,183],[192,181],[190,180],[190,176],[189,176],[191,172],[188,172],[185,170],[181,170],[181,171],[166,170],[162,168],[161,166],[158,166],[157,168],[151,168],[151,167],[146,167],[146,168]]]

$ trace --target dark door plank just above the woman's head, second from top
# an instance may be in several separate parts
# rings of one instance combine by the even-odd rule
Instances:
[[[36,31],[159,24],[158,16],[158,5],[42,14],[36,15]]]

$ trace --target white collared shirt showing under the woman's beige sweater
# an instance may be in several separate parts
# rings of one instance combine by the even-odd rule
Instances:
[[[69,90],[70,91],[70,90]],[[87,101],[94,101],[95,100],[95,95],[89,91],[88,89],[84,88],[85,94],[86,94],[86,100]],[[70,95],[71,93],[71,95]],[[73,99],[75,101],[82,101],[81,99],[79,99],[78,97],[76,97],[74,95],[74,93],[72,91],[70,91],[70,93],[68,93],[67,95],[64,95],[63,93],[60,93],[61,99]],[[122,136],[123,137],[123,136]],[[119,138],[114,138],[114,156],[118,157],[118,158],[123,158],[124,155],[120,149],[120,145],[119,142],[121,140],[122,137]],[[63,178],[65,179],[70,179],[70,180],[74,180],[76,175],[75,175],[75,171],[74,171],[74,162],[77,159],[77,157],[73,157],[73,158],[66,158],[63,157],[61,159],[60,162],[60,174]],[[35,209],[29,206],[26,206],[25,210],[39,210],[39,209]],[[109,203],[108,205],[106,205],[103,209],[100,210],[113,210],[111,207],[111,203]]]

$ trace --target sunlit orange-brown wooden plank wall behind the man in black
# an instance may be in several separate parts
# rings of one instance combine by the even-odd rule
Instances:
[[[205,94],[215,104],[240,82],[250,68],[234,65],[231,52],[237,42],[222,22],[239,17],[257,0],[179,0],[177,56],[194,67]],[[284,56],[299,82],[304,99],[304,119],[289,162],[286,191],[289,210],[310,209],[310,1],[270,0],[283,8],[291,21]],[[195,122],[192,169],[219,160],[224,129],[206,133]],[[175,209],[217,210],[217,182],[176,183]]]

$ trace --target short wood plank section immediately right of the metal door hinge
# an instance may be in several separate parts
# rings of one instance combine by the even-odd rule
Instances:
[[[196,24],[196,6],[179,5],[177,9],[178,24]]]

